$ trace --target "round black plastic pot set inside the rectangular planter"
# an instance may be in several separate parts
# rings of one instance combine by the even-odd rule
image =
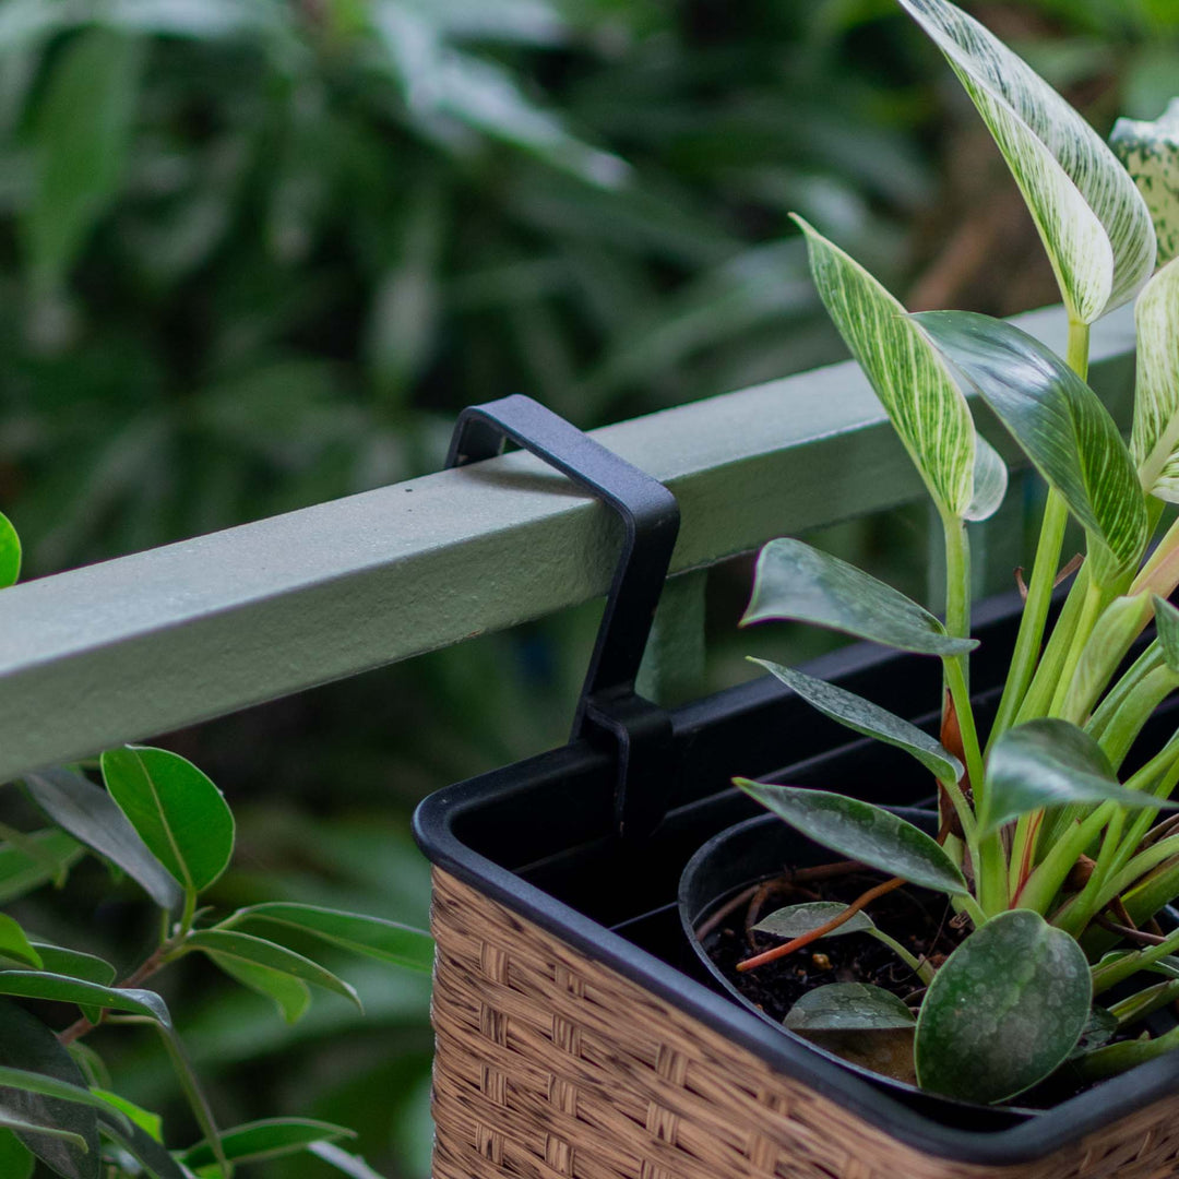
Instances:
[[[889,809],[929,835],[937,830],[937,816],[933,811],[911,806]],[[843,1058],[796,1035],[777,1020],[771,1019],[762,1008],[751,1003],[716,966],[699,937],[696,936],[696,930],[720,904],[751,884],[780,876],[784,868],[810,868],[815,864],[830,863],[832,858],[838,857],[832,856],[832,852],[826,848],[799,835],[776,815],[757,815],[709,839],[692,856],[680,877],[679,920],[684,936],[706,969],[710,980],[742,1007],[757,1014],[782,1035],[790,1036],[797,1043],[805,1045],[811,1052],[826,1056],[829,1060],[838,1061],[842,1067],[858,1073],[880,1088],[902,1098],[910,1108],[918,1109],[930,1117],[944,1117],[948,1107],[956,1107],[959,1111],[969,1111],[979,1129],[997,1129],[1010,1126],[1013,1120],[1026,1120],[1042,1113],[1040,1109],[1027,1109],[1017,1106],[981,1106],[936,1096],[918,1089],[915,1085],[883,1076],[843,1060]]]

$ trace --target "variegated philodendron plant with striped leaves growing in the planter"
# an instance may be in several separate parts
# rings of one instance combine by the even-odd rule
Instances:
[[[842,689],[765,664],[821,712],[929,770],[940,784],[941,830],[935,839],[831,792],[738,785],[891,883],[947,894],[973,926],[936,968],[893,943],[926,983],[915,1015],[889,993],[835,983],[799,1001],[788,1026],[865,1034],[911,1027],[923,1088],[995,1102],[1066,1062],[1096,1079],[1179,1047],[1179,1029],[1151,1039],[1138,1026],[1179,996],[1179,930],[1153,921],[1179,895],[1179,803],[1170,801],[1179,733],[1120,773],[1146,720],[1179,687],[1179,610],[1167,601],[1179,584],[1179,523],[1160,527],[1165,506],[1179,502],[1179,261],[1168,261],[1179,231],[1179,106],[1154,125],[1119,126],[1124,166],[973,18],[948,0],[898,2],[944,53],[1026,198],[1068,314],[1067,355],[984,315],[907,315],[799,219],[822,299],[941,518],[946,621],[798,540],[776,540],[758,560],[744,623],[802,620],[942,660],[941,740]],[[1138,377],[1127,444],[1086,375],[1089,325],[1131,301]],[[966,522],[996,511],[1007,469],[977,433],[967,395],[986,402],[1048,485],[989,732],[976,725],[968,692],[977,644]],[[1046,634],[1069,516],[1085,531],[1087,553]],[[1155,637],[1124,670],[1152,620]],[[839,905],[782,910],[770,924],[791,940],[742,966],[865,922]]]

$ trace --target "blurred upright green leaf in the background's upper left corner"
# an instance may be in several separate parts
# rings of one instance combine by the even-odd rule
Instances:
[[[141,57],[138,40],[94,27],[54,58],[37,104],[34,192],[22,226],[41,291],[65,281],[119,191]]]

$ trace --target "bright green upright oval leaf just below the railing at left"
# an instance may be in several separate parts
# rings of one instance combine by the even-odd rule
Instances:
[[[103,755],[103,779],[157,859],[200,893],[233,854],[233,816],[191,762],[164,749],[125,745]]]

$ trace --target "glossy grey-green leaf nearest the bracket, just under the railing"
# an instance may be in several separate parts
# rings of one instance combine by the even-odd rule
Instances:
[[[928,610],[847,561],[801,540],[771,540],[758,554],[753,594],[742,626],[770,619],[814,623],[901,651],[956,656],[974,639],[955,639]]]

